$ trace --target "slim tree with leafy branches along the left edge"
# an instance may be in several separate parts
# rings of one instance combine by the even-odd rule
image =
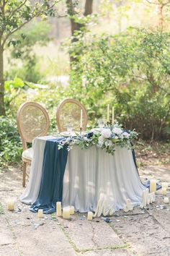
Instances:
[[[4,48],[16,46],[23,39],[15,40],[12,35],[35,17],[53,17],[55,5],[60,0],[0,0],[0,116],[5,116],[4,107]]]

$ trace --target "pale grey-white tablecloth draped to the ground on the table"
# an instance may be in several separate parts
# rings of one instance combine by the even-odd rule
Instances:
[[[37,137],[33,141],[34,155],[30,169],[30,180],[20,197],[26,204],[37,199],[42,175],[45,141],[53,136]],[[74,205],[84,213],[95,211],[99,198],[104,195],[113,210],[120,210],[129,198],[139,205],[146,187],[140,182],[131,150],[117,147],[115,155],[91,147],[81,150],[73,147],[68,153],[63,178],[63,207]]]

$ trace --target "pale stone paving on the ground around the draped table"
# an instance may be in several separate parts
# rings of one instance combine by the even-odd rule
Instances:
[[[142,179],[155,176],[170,182],[170,170],[147,166],[140,170]],[[146,209],[117,212],[106,223],[101,218],[86,221],[86,214],[75,214],[71,221],[47,215],[37,218],[28,205],[19,202],[22,172],[17,168],[0,171],[0,255],[1,256],[109,256],[170,255],[170,204],[163,203],[161,192]],[[6,210],[6,201],[16,197],[14,212]],[[170,192],[169,192],[170,197]],[[165,208],[160,208],[164,205]]]

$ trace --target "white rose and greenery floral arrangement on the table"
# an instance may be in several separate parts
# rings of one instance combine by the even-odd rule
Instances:
[[[132,149],[132,142],[137,137],[138,133],[135,130],[125,130],[122,125],[113,124],[108,127],[91,129],[85,135],[65,137],[58,148],[61,149],[63,145],[68,145],[68,150],[71,150],[73,145],[79,145],[82,149],[97,145],[97,147],[105,149],[107,153],[113,155],[117,145]]]

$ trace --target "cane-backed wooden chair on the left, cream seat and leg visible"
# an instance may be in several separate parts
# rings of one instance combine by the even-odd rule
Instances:
[[[17,111],[17,127],[23,145],[23,187],[25,186],[27,164],[31,163],[33,155],[32,148],[27,148],[27,142],[32,142],[35,137],[47,135],[49,126],[48,112],[39,103],[27,102],[19,107]]]

